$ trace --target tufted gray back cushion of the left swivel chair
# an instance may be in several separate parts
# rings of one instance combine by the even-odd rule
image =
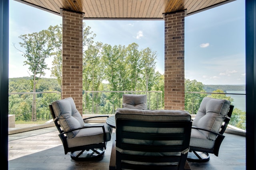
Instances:
[[[73,98],[52,102],[52,107],[64,132],[84,126],[84,121],[76,109]],[[78,131],[67,133],[68,138],[76,136]]]

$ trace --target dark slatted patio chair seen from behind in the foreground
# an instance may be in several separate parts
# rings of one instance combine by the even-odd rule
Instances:
[[[116,109],[110,170],[184,170],[191,115],[179,110]]]

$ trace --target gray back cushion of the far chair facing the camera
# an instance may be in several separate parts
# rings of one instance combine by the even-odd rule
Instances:
[[[147,109],[146,94],[123,94],[123,108]]]

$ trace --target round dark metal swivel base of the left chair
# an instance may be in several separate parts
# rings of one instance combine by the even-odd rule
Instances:
[[[104,154],[104,148],[80,150],[70,152],[70,157],[76,161],[84,161],[88,159],[98,158]]]

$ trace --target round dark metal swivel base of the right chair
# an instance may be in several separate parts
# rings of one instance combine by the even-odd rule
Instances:
[[[187,160],[198,163],[207,162],[210,160],[210,155],[206,152],[196,152],[192,150],[192,152],[188,152]]]

